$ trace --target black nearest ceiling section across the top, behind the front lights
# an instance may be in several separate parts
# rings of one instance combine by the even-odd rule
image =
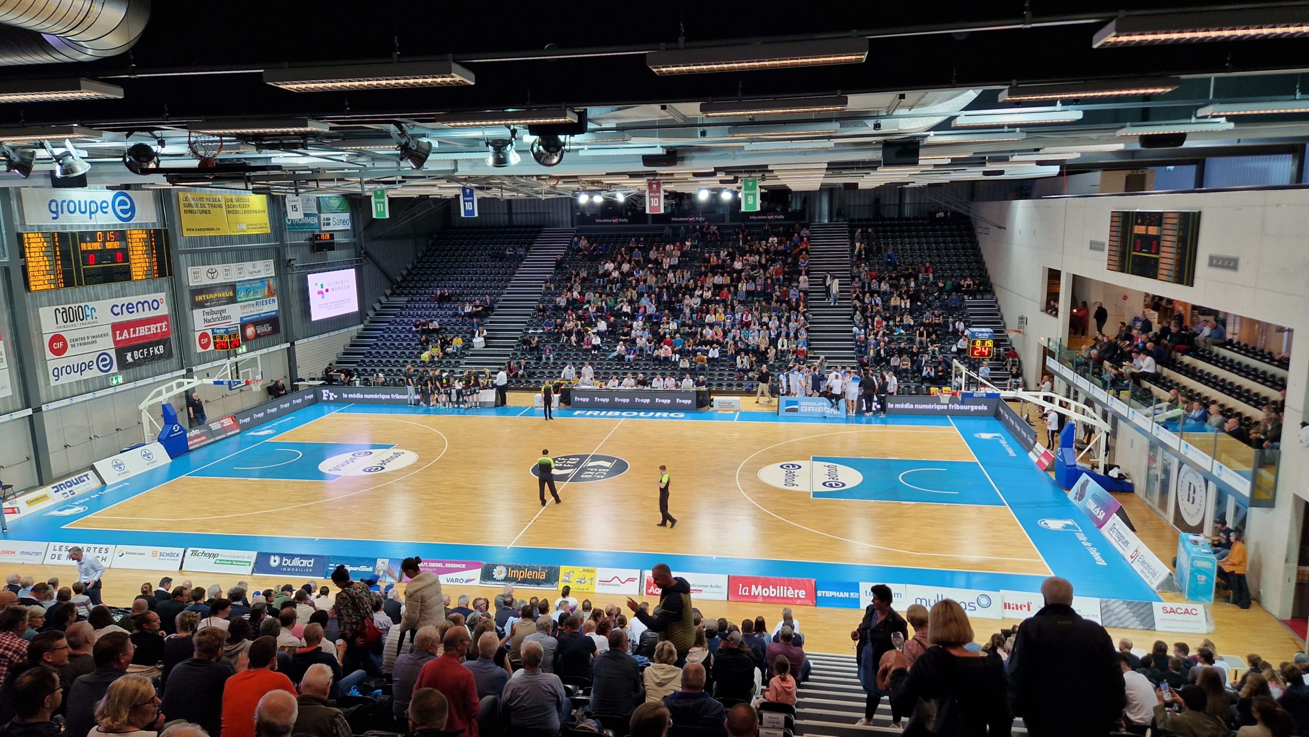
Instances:
[[[1185,9],[1196,3],[1131,5]],[[1210,4],[1210,8],[1213,5]],[[1085,1],[984,3],[635,3],[419,4],[398,0],[279,3],[276,0],[156,1],[149,25],[127,55],[94,64],[10,67],[7,76],[98,77],[126,89],[123,99],[7,105],[0,126],[81,123],[134,127],[198,118],[355,117],[446,110],[776,97],[842,90],[978,88],[1139,75],[1208,75],[1300,68],[1309,39],[1242,41],[1127,48],[1092,48],[1090,38],[1122,4]],[[1025,14],[1026,12],[1026,14]],[[1090,18],[1090,22],[1079,22]],[[956,27],[1008,26],[948,33]],[[1063,25],[1047,25],[1063,24]],[[656,76],[644,54],[624,47],[728,39],[873,35],[864,64],[774,72]],[[877,34],[914,35],[877,38]],[[940,33],[935,33],[940,31]],[[492,62],[487,56],[539,52],[619,52],[572,59]],[[476,75],[469,88],[344,93],[292,93],[262,82],[280,64],[386,60],[453,54]],[[476,60],[483,59],[483,60]],[[1225,80],[1232,82],[1232,80]],[[1237,85],[1238,82],[1232,82]],[[1219,90],[1221,92],[1221,90]],[[1278,90],[1291,94],[1293,89]],[[1221,97],[1221,94],[1219,94]]]

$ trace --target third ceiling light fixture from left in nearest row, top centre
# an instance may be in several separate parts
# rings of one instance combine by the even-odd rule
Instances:
[[[703,72],[746,72],[788,67],[861,64],[868,59],[867,38],[751,43],[749,46],[706,46],[651,51],[645,64],[656,75],[695,75]]]

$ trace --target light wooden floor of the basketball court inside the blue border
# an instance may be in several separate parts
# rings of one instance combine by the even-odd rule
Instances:
[[[1003,505],[812,499],[758,478],[767,463],[812,456],[971,461],[953,427],[338,412],[278,440],[395,444],[419,459],[334,482],[182,476],[71,526],[376,538],[351,522],[368,518],[394,521],[394,539],[415,542],[1050,572]],[[568,483],[564,503],[542,509],[530,475],[542,449],[614,456],[630,470]],[[675,529],[656,526],[661,463],[673,476]]]

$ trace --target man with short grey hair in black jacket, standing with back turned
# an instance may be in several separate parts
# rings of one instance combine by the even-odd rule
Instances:
[[[1072,584],[1041,584],[1045,606],[1026,619],[1009,655],[1009,702],[1033,737],[1103,736],[1127,706],[1114,641],[1072,609]],[[936,628],[936,622],[932,622]],[[1076,678],[1080,698],[1051,699],[1050,679]]]

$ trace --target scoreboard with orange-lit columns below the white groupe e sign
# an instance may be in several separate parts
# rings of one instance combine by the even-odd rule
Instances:
[[[29,292],[173,276],[162,228],[20,233]]]

